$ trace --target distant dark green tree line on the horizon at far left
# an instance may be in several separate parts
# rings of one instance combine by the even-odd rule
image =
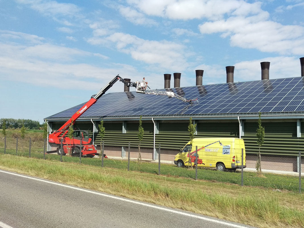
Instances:
[[[6,128],[22,128],[24,126],[29,130],[39,130],[43,127],[43,124],[40,124],[37,120],[31,119],[12,119],[12,118],[1,118],[0,119],[0,128],[6,124]]]

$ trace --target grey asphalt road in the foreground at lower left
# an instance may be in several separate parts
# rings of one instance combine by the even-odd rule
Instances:
[[[0,227],[250,227],[25,176],[0,170]]]

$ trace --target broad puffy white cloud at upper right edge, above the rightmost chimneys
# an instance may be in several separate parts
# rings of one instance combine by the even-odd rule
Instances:
[[[223,37],[230,36],[234,47],[280,54],[304,54],[304,27],[261,20],[264,17],[230,17],[227,20],[205,22],[199,25],[199,29],[202,34],[220,32]]]

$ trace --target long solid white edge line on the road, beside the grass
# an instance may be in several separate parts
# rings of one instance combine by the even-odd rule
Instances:
[[[188,214],[188,213],[185,213],[185,212],[175,211],[175,210],[168,209],[168,208],[162,208],[162,207],[159,207],[159,206],[154,206],[154,205],[150,205],[150,204],[146,204],[146,203],[142,203],[142,202],[136,202],[136,201],[133,201],[133,200],[130,200],[130,199],[123,199],[123,198],[119,198],[117,196],[106,195],[106,194],[103,194],[103,193],[93,192],[93,191],[90,191],[90,190],[86,190],[86,189],[82,189],[82,188],[76,188],[76,187],[69,186],[69,185],[54,183],[54,182],[47,181],[47,180],[41,180],[41,179],[28,177],[28,176],[24,176],[24,175],[20,175],[20,174],[16,174],[16,173],[10,173],[10,172],[6,172],[6,171],[2,171],[2,170],[0,170],[0,172],[7,173],[7,174],[12,174],[12,175],[15,175],[15,176],[24,177],[24,178],[28,178],[28,179],[32,179],[32,180],[36,180],[36,181],[41,181],[41,182],[49,183],[49,184],[52,184],[52,185],[58,185],[58,186],[66,187],[66,188],[71,188],[71,189],[75,189],[75,190],[82,191],[82,192],[88,192],[88,193],[92,193],[92,194],[95,194],[95,195],[101,195],[101,196],[112,198],[112,199],[118,199],[118,200],[130,202],[130,203],[134,203],[134,204],[139,204],[139,205],[146,206],[146,207],[152,207],[152,208],[155,208],[155,209],[168,211],[168,212],[171,212],[171,213],[180,214],[180,215],[184,215],[184,216],[189,216],[189,217],[193,217],[193,218],[196,218],[196,219],[202,219],[202,220],[206,220],[206,221],[213,222],[213,223],[220,223],[220,224],[223,224],[223,225],[226,225],[226,226],[232,226],[232,227],[237,227],[237,228],[248,228],[246,226],[240,226],[240,225],[236,225],[236,224],[232,224],[232,223],[218,221],[218,220],[215,220],[215,219],[209,219],[209,218],[205,218],[205,217],[202,217],[202,216],[192,215],[192,214]],[[0,225],[1,225],[1,223],[0,223]],[[4,228],[10,228],[10,226],[4,227]]]

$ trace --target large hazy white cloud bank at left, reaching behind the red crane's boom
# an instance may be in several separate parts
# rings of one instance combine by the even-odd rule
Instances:
[[[1,31],[4,34],[15,32]],[[0,37],[2,37],[0,33]],[[75,48],[62,47],[49,43],[23,44],[19,37],[38,36],[16,33],[19,43],[10,42],[11,37],[0,42],[0,78],[14,82],[25,82],[48,88],[81,88],[98,91],[115,75],[121,73],[124,78],[140,80],[142,75],[128,64],[108,63],[108,67],[99,67],[81,62],[80,57],[95,57],[95,60],[109,57]],[[34,41],[35,41],[34,39]],[[39,40],[43,40],[40,37]],[[6,41],[6,43],[4,43]],[[119,84],[119,83],[117,83]],[[151,83],[153,84],[153,83]],[[123,85],[115,85],[111,92],[123,91]]]

